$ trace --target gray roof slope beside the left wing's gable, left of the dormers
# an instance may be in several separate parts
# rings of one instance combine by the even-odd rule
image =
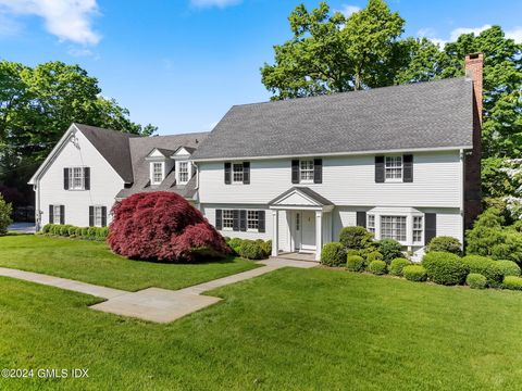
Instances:
[[[139,136],[109,130],[96,126],[74,124],[82,134],[95,146],[98,152],[109,162],[114,171],[127,182],[133,182],[133,166],[130,165],[129,139],[140,139]]]

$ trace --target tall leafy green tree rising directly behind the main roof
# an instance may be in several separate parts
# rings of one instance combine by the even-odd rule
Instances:
[[[408,59],[398,40],[405,21],[383,0],[349,17],[322,2],[298,5],[288,17],[294,37],[274,47],[275,64],[261,68],[272,99],[300,98],[390,85]]]

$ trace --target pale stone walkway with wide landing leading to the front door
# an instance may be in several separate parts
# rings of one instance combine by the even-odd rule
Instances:
[[[127,292],[66,278],[4,267],[0,267],[0,276],[23,279],[107,299],[104,302],[90,306],[90,308],[94,310],[149,321],[170,323],[221,301],[220,298],[201,295],[202,292],[258,277],[282,267],[310,268],[318,265],[314,262],[283,258],[260,261],[259,264],[264,266],[175,291],[148,288],[137,292]]]

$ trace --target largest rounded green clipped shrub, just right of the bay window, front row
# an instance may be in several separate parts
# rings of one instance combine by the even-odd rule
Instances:
[[[458,255],[436,251],[424,255],[422,266],[431,281],[446,286],[464,282],[469,273],[469,267]]]

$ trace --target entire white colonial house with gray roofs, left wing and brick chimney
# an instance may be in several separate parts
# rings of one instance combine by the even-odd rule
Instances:
[[[73,124],[32,178],[40,224],[104,225],[117,199],[176,191],[227,237],[315,253],[360,225],[420,256],[480,212],[482,54],[467,76],[237,105],[209,134]]]

